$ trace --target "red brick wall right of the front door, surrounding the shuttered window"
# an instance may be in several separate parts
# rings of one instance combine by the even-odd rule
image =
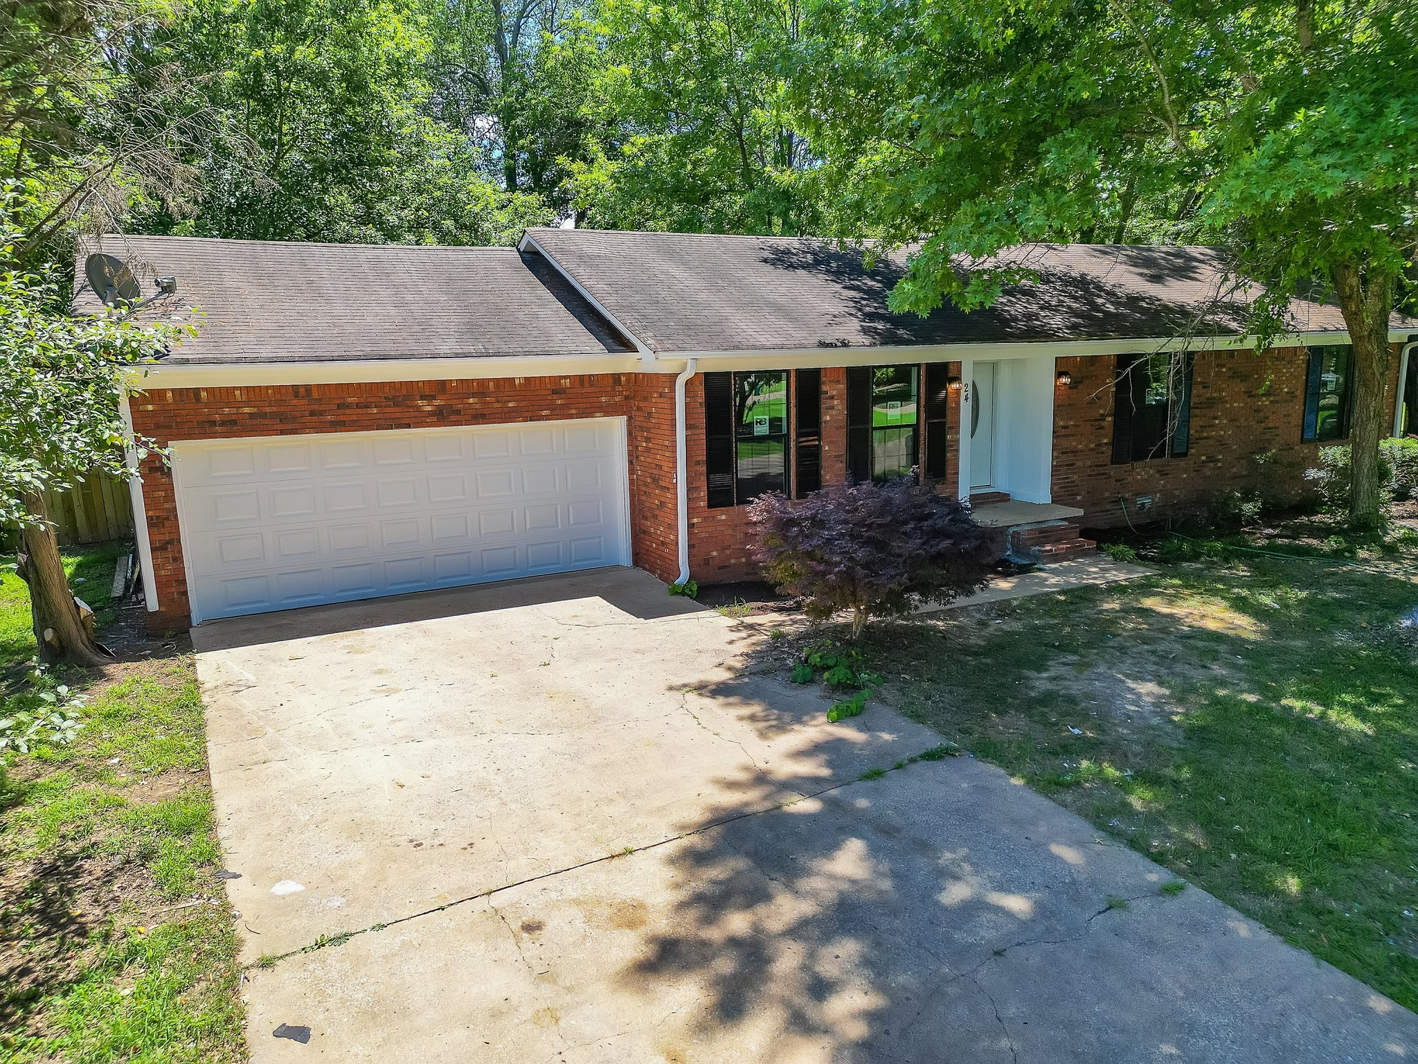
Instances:
[[[1153,497],[1153,516],[1168,516],[1202,511],[1227,488],[1279,502],[1303,492],[1320,447],[1300,440],[1303,348],[1197,352],[1187,457],[1127,465],[1112,464],[1116,365],[1113,356],[1056,360],[1073,380],[1054,394],[1054,502],[1082,508],[1085,523],[1122,525],[1119,498],[1136,521],[1137,495]]]

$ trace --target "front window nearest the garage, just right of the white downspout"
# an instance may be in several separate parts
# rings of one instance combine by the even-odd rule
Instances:
[[[710,506],[788,489],[786,370],[705,373],[705,465]]]

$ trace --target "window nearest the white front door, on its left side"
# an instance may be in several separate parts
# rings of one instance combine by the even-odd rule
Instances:
[[[920,367],[875,366],[847,372],[847,474],[889,481],[916,467]]]

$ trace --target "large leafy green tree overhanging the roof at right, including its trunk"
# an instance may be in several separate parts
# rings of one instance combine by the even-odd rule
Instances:
[[[1414,305],[1418,7],[1405,0],[818,0],[794,102],[835,227],[922,241],[898,309],[991,302],[1024,241],[1204,241],[1354,345],[1350,519],[1378,521],[1395,305]]]

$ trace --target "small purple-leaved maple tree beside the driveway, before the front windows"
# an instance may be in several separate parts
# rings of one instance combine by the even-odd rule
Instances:
[[[852,638],[871,617],[949,603],[988,582],[1000,552],[954,498],[929,484],[832,484],[797,502],[778,494],[749,506],[763,572],[807,597],[807,614],[852,611]]]

